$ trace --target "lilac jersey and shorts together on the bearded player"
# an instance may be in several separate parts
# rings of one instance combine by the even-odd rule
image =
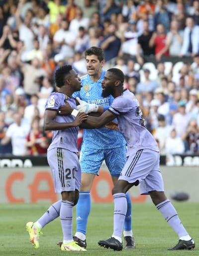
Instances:
[[[108,110],[117,115],[119,130],[127,143],[127,161],[119,180],[139,181],[140,194],[164,191],[158,144],[144,126],[142,111],[134,94],[125,90],[113,100]]]

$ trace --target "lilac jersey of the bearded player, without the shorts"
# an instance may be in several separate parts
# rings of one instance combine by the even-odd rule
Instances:
[[[144,126],[144,118],[139,107],[139,102],[129,90],[113,100],[108,109],[117,115],[119,131],[127,143],[127,156],[134,149],[151,149],[159,152],[157,142]]]

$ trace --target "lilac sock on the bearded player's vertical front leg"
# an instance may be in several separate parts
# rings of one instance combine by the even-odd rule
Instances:
[[[116,193],[113,195],[114,198],[114,231],[113,236],[122,236],[122,230],[124,226],[124,220],[127,211],[126,194]]]

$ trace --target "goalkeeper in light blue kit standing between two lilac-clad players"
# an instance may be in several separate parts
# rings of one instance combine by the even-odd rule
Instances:
[[[91,105],[88,109],[78,106],[79,111],[97,112],[98,105],[103,106],[104,111],[113,101],[110,95],[101,96],[101,81],[105,71],[103,50],[100,47],[91,47],[85,52],[88,74],[81,77],[82,88],[73,94]],[[81,103],[81,102],[80,102]],[[93,105],[94,104],[94,105]],[[77,204],[77,229],[74,240],[79,246],[86,248],[87,222],[91,210],[91,188],[96,175],[99,175],[100,166],[105,160],[110,172],[113,184],[116,183],[126,159],[126,142],[118,131],[100,128],[85,129],[83,144],[80,153],[80,165],[82,170],[82,182],[80,197]],[[127,213],[124,222],[125,249],[135,248],[134,237],[131,229],[131,201],[127,193]]]

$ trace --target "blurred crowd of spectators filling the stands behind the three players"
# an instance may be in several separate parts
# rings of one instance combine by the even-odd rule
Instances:
[[[46,154],[55,71],[86,74],[91,46],[124,72],[160,153],[198,154],[199,0],[0,0],[0,155]]]

